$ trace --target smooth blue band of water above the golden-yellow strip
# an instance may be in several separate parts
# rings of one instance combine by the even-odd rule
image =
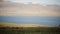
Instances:
[[[0,22],[16,24],[41,24],[57,26],[60,24],[59,16],[0,16]]]

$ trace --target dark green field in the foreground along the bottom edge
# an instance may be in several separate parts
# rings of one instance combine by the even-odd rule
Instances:
[[[0,34],[60,34],[60,27],[0,27]]]

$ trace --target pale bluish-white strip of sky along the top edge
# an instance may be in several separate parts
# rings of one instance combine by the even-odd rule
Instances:
[[[41,4],[58,4],[58,5],[60,5],[60,0],[8,0],[8,1],[18,2],[18,3],[33,2],[33,3],[41,3]]]

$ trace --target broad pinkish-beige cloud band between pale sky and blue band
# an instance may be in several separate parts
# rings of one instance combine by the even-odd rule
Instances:
[[[20,3],[9,3],[6,2],[4,5],[4,8],[0,8],[0,15],[32,15],[32,16],[60,16],[60,6],[58,5],[49,5],[46,6],[46,4],[40,6],[40,5],[32,5],[25,3],[25,4],[20,4]],[[33,2],[33,4],[36,4],[36,2]],[[11,5],[11,6],[10,6]],[[33,7],[35,6],[35,7]],[[44,6],[44,7],[43,7]]]

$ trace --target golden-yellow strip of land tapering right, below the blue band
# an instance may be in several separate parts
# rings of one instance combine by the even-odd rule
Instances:
[[[58,27],[58,26],[46,26],[39,24],[14,24],[14,23],[0,22],[0,27]]]

